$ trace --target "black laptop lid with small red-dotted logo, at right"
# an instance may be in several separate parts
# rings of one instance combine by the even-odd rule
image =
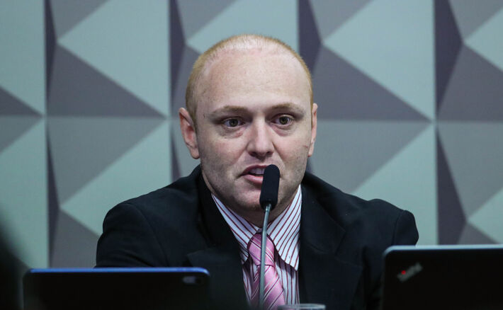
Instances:
[[[503,309],[503,246],[392,246],[383,310]]]

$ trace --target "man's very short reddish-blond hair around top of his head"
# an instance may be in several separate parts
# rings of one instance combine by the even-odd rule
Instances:
[[[206,68],[219,57],[222,52],[229,51],[249,51],[261,50],[269,52],[287,52],[298,60],[303,67],[309,82],[310,103],[312,108],[312,80],[311,73],[307,68],[304,60],[300,55],[293,50],[290,45],[276,38],[267,37],[265,35],[234,35],[230,38],[221,40],[208,50],[200,54],[192,67],[191,76],[188,78],[188,84],[185,93],[185,105],[188,113],[191,115],[193,125],[196,126],[196,110],[198,105],[198,95],[200,79]]]

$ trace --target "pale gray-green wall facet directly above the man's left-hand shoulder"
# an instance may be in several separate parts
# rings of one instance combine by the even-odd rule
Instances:
[[[62,209],[100,235],[108,209],[171,182],[169,137],[166,120],[64,202]]]

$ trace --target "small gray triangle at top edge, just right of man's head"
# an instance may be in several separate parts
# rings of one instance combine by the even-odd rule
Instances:
[[[369,0],[332,0],[332,1],[310,1],[312,11],[315,13],[318,31],[322,38],[327,38],[334,30],[339,28],[354,13],[358,12]]]

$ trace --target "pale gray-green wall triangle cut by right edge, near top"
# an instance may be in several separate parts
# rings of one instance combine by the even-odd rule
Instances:
[[[475,30],[465,43],[503,71],[503,8]]]

